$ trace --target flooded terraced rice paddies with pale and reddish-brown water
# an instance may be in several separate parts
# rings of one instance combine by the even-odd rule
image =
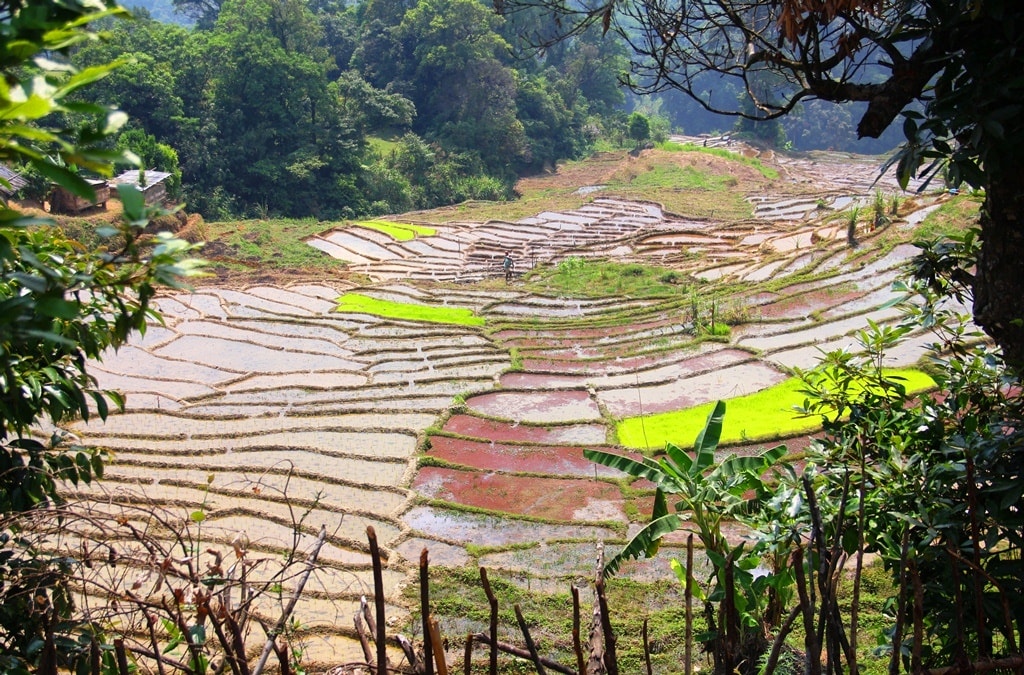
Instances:
[[[851,249],[845,225],[819,206],[866,204],[874,165],[769,163],[784,194],[752,196],[755,215],[742,222],[688,219],[595,188],[579,209],[514,222],[452,222],[404,242],[349,227],[309,242],[369,277],[367,286],[162,297],[166,324],[94,365],[100,386],[128,394],[128,409],[74,427],[116,453],[87,494],[183,515],[201,506],[206,539],[244,532],[266,553],[287,548],[296,529],[305,545],[326,525],[317,592],[296,609],[307,658],[321,663],[359,653],[351,616],[372,589],[368,525],[387,553],[392,616],[424,548],[435,566],[484,565],[534,589],[587,577],[596,543],[613,550],[637,528],[630,514],[649,509],[646,493],[635,497],[583,459],[586,448],[616,450],[615,420],[763,389],[822,349],[852,345],[868,320],[895,317],[879,307],[912,247],[883,248],[863,231]],[[710,341],[694,335],[688,297],[577,299],[518,282],[454,283],[496,277],[506,250],[520,271],[611,257],[730,284],[738,323],[728,340]],[[353,291],[469,308],[485,325],[336,312]],[[914,363],[924,340],[891,365]],[[680,430],[680,445],[696,431]],[[806,438],[790,442],[797,450]],[[624,574],[671,573],[663,558]]]

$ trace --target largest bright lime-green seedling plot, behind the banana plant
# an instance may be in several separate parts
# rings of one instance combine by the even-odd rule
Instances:
[[[902,378],[902,384],[910,392],[935,386],[930,376],[916,370],[888,370],[886,375]],[[771,388],[728,399],[721,442],[767,440],[820,428],[820,417],[801,417],[794,412],[794,407],[803,406],[807,398],[803,388],[801,380],[791,378]],[[618,442],[627,448],[663,448],[666,442],[688,448],[714,407],[714,403],[709,403],[671,413],[626,418],[616,427]]]

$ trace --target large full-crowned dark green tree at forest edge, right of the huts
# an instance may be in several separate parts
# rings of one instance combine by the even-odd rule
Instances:
[[[327,80],[319,30],[299,0],[230,0],[210,55],[220,65],[211,100],[224,188],[289,215],[353,208],[336,189],[357,170],[358,137]]]

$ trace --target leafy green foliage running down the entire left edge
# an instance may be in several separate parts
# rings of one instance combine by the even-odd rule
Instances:
[[[0,29],[0,160],[28,164],[72,193],[91,199],[76,172],[111,175],[124,154],[110,141],[125,121],[106,107],[71,102],[82,87],[117,64],[77,70],[54,58],[90,40],[98,19],[120,8],[36,0],[8,6]],[[43,54],[46,54],[44,57]],[[66,123],[66,126],[56,126]],[[63,481],[102,476],[104,456],[30,437],[30,430],[95,414],[105,418],[116,392],[96,389],[90,360],[117,348],[148,321],[160,286],[178,287],[195,272],[193,249],[144,228],[157,212],[142,195],[121,186],[125,221],[97,231],[104,245],[86,247],[46,219],[0,208],[0,667],[4,672],[83,669],[98,630],[74,616],[67,581],[71,558],[49,556],[20,535],[12,515],[59,501]]]

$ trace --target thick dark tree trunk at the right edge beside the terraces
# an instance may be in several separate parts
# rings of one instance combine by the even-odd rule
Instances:
[[[989,170],[981,209],[981,252],[974,281],[974,319],[1024,369],[1024,167]]]

